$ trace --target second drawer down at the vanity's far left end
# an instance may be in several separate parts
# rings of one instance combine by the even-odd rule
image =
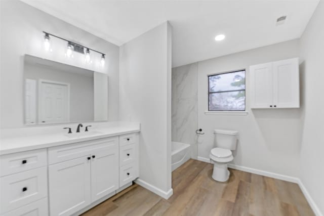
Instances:
[[[0,178],[1,213],[47,196],[47,167]]]

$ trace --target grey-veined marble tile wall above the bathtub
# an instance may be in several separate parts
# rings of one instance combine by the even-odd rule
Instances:
[[[197,158],[198,63],[172,68],[172,141],[191,145]]]

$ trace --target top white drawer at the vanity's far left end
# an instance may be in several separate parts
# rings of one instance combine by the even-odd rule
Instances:
[[[7,176],[17,172],[46,166],[46,149],[1,155],[0,164],[0,176]]]

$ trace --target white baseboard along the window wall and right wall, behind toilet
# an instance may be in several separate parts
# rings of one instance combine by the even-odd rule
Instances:
[[[198,156],[197,160],[207,162],[207,163],[212,163],[212,161],[209,158],[205,158],[205,157],[199,157]],[[299,185],[301,191],[303,192],[306,200],[308,201],[310,207],[314,211],[315,215],[316,216],[324,216],[320,212],[318,206],[316,205],[316,203],[314,202],[314,200],[312,199],[312,197],[308,193],[306,187],[303,185],[303,183],[301,182],[301,180],[299,178],[286,176],[286,175],[281,175],[281,174],[276,174],[275,172],[269,172],[269,171],[264,171],[264,170],[260,170],[260,169],[255,169],[255,168],[250,168],[250,167],[240,166],[240,165],[235,165],[235,164],[228,164],[228,167],[232,168],[232,169],[241,170],[241,171],[251,172],[253,174],[257,174],[257,175],[260,175],[260,176],[266,176],[266,177],[270,177],[270,178],[273,178],[273,179],[279,179],[279,180],[283,180],[283,181],[287,181],[287,182],[297,183]]]

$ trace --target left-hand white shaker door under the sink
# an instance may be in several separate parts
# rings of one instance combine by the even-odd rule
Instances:
[[[80,157],[49,166],[50,214],[71,215],[91,203],[91,160]]]

